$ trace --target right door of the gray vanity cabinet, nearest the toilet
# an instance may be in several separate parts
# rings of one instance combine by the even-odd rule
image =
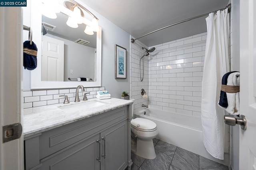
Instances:
[[[127,165],[127,120],[109,127],[101,137],[101,170],[122,170]],[[104,140],[106,138],[106,140]],[[104,158],[106,156],[106,158]]]

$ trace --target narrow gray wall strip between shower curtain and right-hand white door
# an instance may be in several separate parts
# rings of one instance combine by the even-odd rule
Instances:
[[[231,69],[240,71],[240,2],[239,0],[232,0],[231,9],[231,32],[232,32],[232,45],[231,45]],[[232,170],[239,170],[239,131],[240,126],[231,127],[231,168]]]

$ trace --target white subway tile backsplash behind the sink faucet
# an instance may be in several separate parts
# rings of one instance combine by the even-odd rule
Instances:
[[[105,87],[96,88],[84,88],[85,92],[90,92],[87,94],[87,98],[96,98],[96,93],[98,90],[105,90]],[[82,100],[84,98],[84,93],[81,89],[78,91],[79,98]],[[70,102],[74,102],[76,96],[76,89],[60,89],[60,90],[36,90],[36,91],[24,91],[23,92],[23,108],[46,106],[51,104],[58,104],[64,102],[64,97],[60,95],[67,95]]]

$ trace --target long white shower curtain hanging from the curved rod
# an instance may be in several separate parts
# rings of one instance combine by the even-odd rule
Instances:
[[[222,76],[230,70],[228,9],[206,18],[207,39],[202,78],[202,127],[206,150],[224,159],[224,109],[218,107]]]

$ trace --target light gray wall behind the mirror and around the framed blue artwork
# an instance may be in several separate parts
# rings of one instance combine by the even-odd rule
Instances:
[[[102,27],[102,84],[111,97],[120,98],[122,91],[130,91],[130,35],[114,23],[84,5],[98,19]],[[26,9],[27,10],[27,9]],[[28,20],[30,16],[24,16]],[[28,25],[29,26],[29,25]],[[115,79],[114,76],[114,45],[126,48],[126,79]],[[23,90],[30,90],[30,71],[23,72]]]

